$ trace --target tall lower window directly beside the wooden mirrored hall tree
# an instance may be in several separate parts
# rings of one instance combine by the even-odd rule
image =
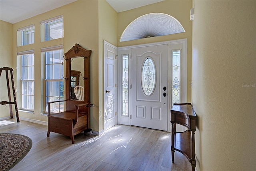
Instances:
[[[63,49],[44,52],[45,59],[45,97],[47,102],[64,100]],[[64,111],[64,103],[52,103],[51,112]]]

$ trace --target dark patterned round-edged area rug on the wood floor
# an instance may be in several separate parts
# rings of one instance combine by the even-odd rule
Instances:
[[[14,167],[31,147],[32,140],[25,135],[0,133],[0,171]]]

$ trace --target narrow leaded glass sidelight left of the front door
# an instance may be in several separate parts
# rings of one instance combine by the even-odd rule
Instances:
[[[128,116],[128,55],[122,55],[122,115]]]

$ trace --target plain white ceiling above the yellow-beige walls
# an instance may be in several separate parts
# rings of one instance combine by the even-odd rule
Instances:
[[[12,24],[53,10],[76,0],[0,0],[0,20]],[[116,12],[122,12],[163,0],[106,0]]]

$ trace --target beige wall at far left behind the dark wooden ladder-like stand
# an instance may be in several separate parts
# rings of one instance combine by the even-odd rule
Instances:
[[[13,56],[12,56],[12,24],[0,20],[0,68],[9,67],[14,68],[13,65]],[[15,68],[14,68],[15,69]],[[9,80],[10,80],[10,72]],[[11,86],[11,83],[10,83]],[[12,87],[10,87],[12,92]],[[11,93],[11,97],[12,93]],[[2,71],[0,78],[0,101],[9,101],[8,91],[7,91],[7,82],[6,82],[6,72]],[[13,98],[12,98],[13,101]],[[15,108],[12,105],[13,115],[15,115]],[[1,117],[10,117],[9,105],[0,105],[0,118]]]

